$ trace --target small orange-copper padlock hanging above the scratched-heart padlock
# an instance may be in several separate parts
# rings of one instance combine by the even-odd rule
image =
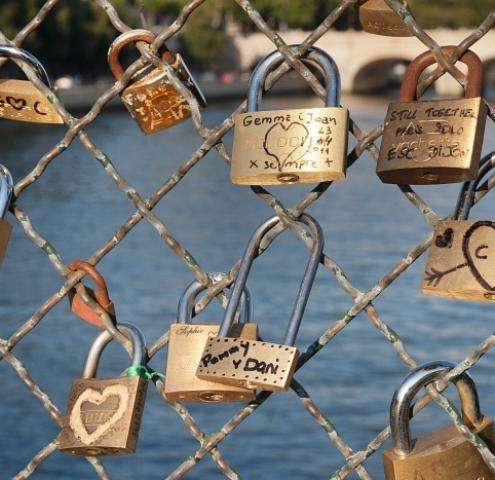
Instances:
[[[96,285],[96,291],[89,287],[85,287],[88,296],[108,313],[113,323],[116,323],[115,306],[108,296],[107,284],[105,283],[105,279],[101,276],[100,272],[98,272],[93,265],[83,260],[75,260],[71,262],[69,265],[69,270],[73,272],[81,270],[86,273],[91,280],[93,280]],[[83,319],[85,322],[96,325],[99,328],[105,328],[105,325],[103,325],[98,313],[80,297],[75,288],[69,291],[68,297],[70,307],[78,317]]]

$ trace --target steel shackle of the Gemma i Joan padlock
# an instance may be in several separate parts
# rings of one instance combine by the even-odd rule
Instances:
[[[290,45],[290,47],[298,48],[299,45],[294,44]],[[314,63],[318,64],[326,80],[325,105],[327,107],[338,107],[340,105],[340,73],[333,58],[321,48],[311,47],[307,56],[300,57],[299,60],[304,63],[310,63],[311,65]],[[285,57],[278,50],[275,50],[256,65],[249,80],[247,97],[248,112],[256,112],[260,109],[266,77],[284,61]]]

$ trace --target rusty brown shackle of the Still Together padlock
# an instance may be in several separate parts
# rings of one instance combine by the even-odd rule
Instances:
[[[456,50],[456,46],[449,45],[441,47],[445,55],[451,55]],[[481,97],[483,90],[483,63],[480,57],[472,50],[467,50],[458,60],[468,67],[467,85],[464,98]],[[400,89],[400,102],[414,102],[417,98],[417,88],[421,74],[430,65],[437,63],[434,53],[428,50],[417,56],[407,67],[402,86]]]

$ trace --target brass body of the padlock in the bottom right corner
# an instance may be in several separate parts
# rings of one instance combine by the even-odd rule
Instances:
[[[494,447],[493,421],[485,417],[476,433]],[[481,455],[452,425],[416,440],[409,455],[383,454],[386,480],[493,480]]]

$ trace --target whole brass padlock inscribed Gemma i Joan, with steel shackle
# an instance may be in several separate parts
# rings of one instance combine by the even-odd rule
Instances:
[[[349,112],[339,106],[340,75],[335,62],[317,47],[301,58],[324,73],[324,108],[260,111],[265,79],[283,60],[280,52],[272,52],[253,71],[247,113],[235,117],[232,183],[282,185],[344,179]]]

